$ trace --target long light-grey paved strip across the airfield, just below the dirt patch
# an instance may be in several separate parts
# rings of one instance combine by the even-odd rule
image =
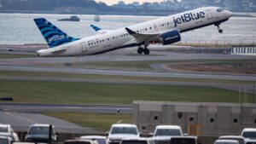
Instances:
[[[39,67],[39,66],[0,66],[0,70],[20,71],[20,72],[61,72],[75,74],[97,74],[110,76],[133,76],[148,78],[204,78],[204,79],[224,79],[224,80],[244,80],[256,81],[256,77],[247,74],[211,74],[211,73],[185,73],[185,72],[146,72],[146,71],[122,71],[108,69],[86,69],[86,68],[67,68],[67,67]]]

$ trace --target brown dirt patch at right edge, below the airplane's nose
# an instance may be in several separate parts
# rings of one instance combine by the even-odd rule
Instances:
[[[195,72],[231,72],[256,74],[256,61],[254,62],[233,62],[233,63],[191,63],[191,64],[166,64],[167,68],[178,71]]]

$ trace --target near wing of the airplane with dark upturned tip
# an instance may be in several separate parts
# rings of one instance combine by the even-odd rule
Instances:
[[[151,41],[157,41],[160,37],[160,33],[137,33],[131,31],[131,29],[125,27],[125,30],[136,39],[137,43],[149,44]]]

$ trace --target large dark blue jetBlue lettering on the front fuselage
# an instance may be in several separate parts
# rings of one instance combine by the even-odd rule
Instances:
[[[176,27],[177,25],[182,24],[184,22],[189,22],[191,20],[198,20],[205,17],[206,17],[206,14],[204,12],[194,13],[194,14],[192,13],[183,14],[178,18],[173,17],[174,26]]]

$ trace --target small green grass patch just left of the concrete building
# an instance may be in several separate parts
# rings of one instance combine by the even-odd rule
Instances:
[[[85,112],[44,112],[50,117],[61,118],[74,124],[96,130],[108,131],[118,121],[131,124],[131,114],[85,113]]]

